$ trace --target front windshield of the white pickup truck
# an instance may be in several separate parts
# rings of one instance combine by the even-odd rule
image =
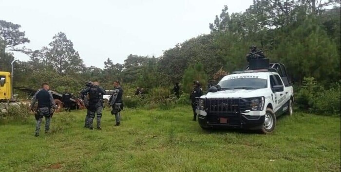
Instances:
[[[267,80],[260,78],[236,78],[220,81],[221,89],[260,89],[267,87]]]

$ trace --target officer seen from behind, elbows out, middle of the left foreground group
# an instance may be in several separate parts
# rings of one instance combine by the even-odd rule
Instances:
[[[97,129],[101,130],[101,118],[103,111],[103,95],[105,94],[105,90],[99,86],[97,81],[93,82],[93,85],[88,87],[85,90],[81,91],[82,94],[87,94],[89,97],[89,129],[94,130],[93,122],[95,115],[97,115]]]

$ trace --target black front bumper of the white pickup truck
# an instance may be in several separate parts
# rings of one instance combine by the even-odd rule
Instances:
[[[203,128],[243,128],[261,129],[265,115],[236,114],[198,114],[199,125]]]

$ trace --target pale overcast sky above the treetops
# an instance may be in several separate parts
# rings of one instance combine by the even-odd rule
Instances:
[[[0,19],[21,25],[31,42],[47,46],[58,32],[74,43],[86,66],[104,67],[109,57],[123,63],[129,54],[159,57],[177,43],[208,34],[224,5],[245,11],[252,0],[0,0]],[[28,60],[15,53],[19,60]]]

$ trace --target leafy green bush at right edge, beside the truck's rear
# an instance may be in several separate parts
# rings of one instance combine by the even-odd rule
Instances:
[[[324,89],[314,78],[304,78],[303,86],[295,96],[297,106],[318,114],[340,114],[341,99],[340,83]]]

